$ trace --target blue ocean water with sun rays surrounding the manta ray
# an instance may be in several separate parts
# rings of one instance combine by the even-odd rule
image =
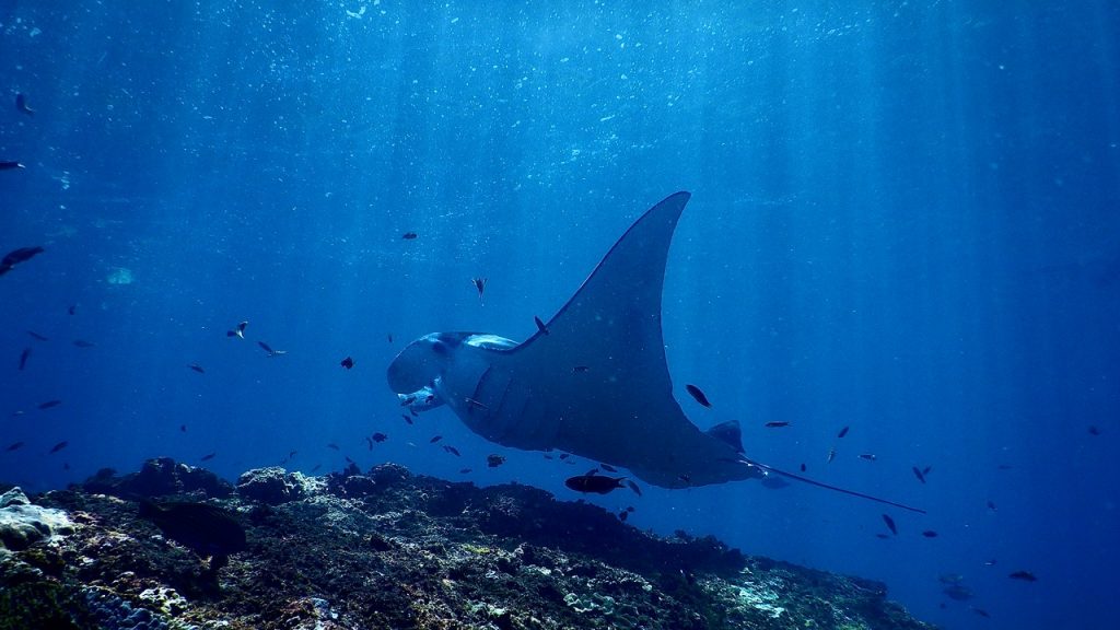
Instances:
[[[1103,0],[4,0],[0,160],[26,168],[0,253],[46,251],[0,277],[0,480],[349,456],[576,499],[587,462],[408,425],[385,367],[433,331],[528,337],[688,189],[685,413],[928,515],[757,482],[591,500],[883,580],[945,628],[1112,627],[1118,33]]]

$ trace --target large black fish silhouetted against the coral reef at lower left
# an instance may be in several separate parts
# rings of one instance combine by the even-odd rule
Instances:
[[[140,518],[202,557],[245,550],[245,530],[233,513],[208,503],[140,501]],[[213,565],[212,565],[213,566]]]

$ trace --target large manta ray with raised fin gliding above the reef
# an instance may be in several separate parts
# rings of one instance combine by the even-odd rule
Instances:
[[[749,460],[738,423],[701,432],[684,416],[665,361],[661,299],[669,244],[689,197],[671,195],[638,219],[524,343],[428,334],[390,364],[390,388],[417,411],[447,405],[491,442],[567,451],[663,488],[775,473],[921,511]]]

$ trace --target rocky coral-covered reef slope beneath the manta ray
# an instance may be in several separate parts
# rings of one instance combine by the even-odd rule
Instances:
[[[0,630],[930,628],[879,583],[713,538],[659,538],[534,488],[392,464],[320,478],[262,469],[234,491],[153,460],[34,502],[9,495]],[[138,501],[153,497],[223,507],[245,550],[211,566],[139,518]],[[25,536],[4,534],[15,529]]]

